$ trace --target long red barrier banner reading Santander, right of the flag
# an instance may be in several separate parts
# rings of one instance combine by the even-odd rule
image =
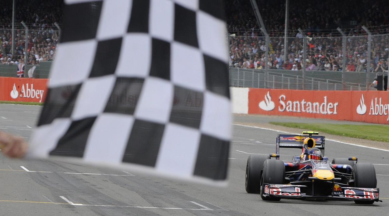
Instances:
[[[389,92],[249,89],[249,114],[389,124]]]

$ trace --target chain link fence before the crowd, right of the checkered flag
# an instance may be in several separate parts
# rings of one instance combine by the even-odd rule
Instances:
[[[230,36],[230,84],[253,88],[373,90],[370,86],[377,73],[388,69],[389,35],[367,33],[328,37],[300,34],[288,37],[286,43],[283,36]],[[383,70],[376,70],[378,66]]]

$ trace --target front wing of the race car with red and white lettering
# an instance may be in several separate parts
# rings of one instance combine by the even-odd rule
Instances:
[[[376,202],[382,200],[379,199],[379,188],[355,188],[355,187],[341,187],[342,193],[337,193],[329,196],[315,196],[307,195],[301,192],[302,187],[305,185],[274,185],[266,184],[262,185],[263,196],[265,197],[282,197],[282,198],[295,198],[295,199],[345,199],[345,200],[374,200]]]

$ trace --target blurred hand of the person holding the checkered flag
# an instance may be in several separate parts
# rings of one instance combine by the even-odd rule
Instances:
[[[0,149],[3,154],[13,158],[23,158],[28,149],[26,140],[0,131]]]

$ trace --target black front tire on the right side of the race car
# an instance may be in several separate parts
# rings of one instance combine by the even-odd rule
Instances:
[[[375,169],[371,163],[356,163],[353,167],[354,187],[376,188],[377,177]],[[356,204],[373,204],[372,200],[354,200]]]

